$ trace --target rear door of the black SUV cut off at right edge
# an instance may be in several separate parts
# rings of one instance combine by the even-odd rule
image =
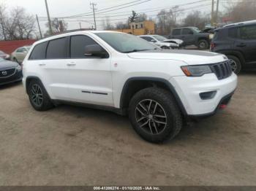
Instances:
[[[235,47],[243,52],[246,63],[256,63],[256,25],[239,28]]]

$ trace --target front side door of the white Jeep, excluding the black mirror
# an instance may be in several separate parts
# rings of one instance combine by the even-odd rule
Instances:
[[[110,54],[105,58],[85,55],[85,47],[91,44],[98,43],[87,35],[69,37],[66,79],[69,98],[75,102],[113,106]]]

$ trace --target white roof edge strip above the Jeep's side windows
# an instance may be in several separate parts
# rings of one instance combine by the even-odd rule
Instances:
[[[97,33],[121,33],[118,31],[71,31],[71,32],[66,32],[63,34],[56,34],[53,36],[49,36],[45,39],[41,39],[39,41],[36,42],[36,44],[42,43],[42,42],[47,42],[49,40],[53,40],[53,39],[58,39],[61,37],[65,37],[65,36],[72,36],[72,35],[76,35],[76,34],[97,34]]]

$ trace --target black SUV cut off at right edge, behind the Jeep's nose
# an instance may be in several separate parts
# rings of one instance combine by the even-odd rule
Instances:
[[[256,20],[215,30],[211,51],[227,55],[236,74],[241,69],[256,68]]]

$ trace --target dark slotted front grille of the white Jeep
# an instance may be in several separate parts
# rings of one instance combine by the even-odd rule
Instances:
[[[214,63],[211,65],[211,70],[214,72],[214,74],[216,74],[218,79],[225,79],[227,77],[230,77],[232,74],[230,61]]]

